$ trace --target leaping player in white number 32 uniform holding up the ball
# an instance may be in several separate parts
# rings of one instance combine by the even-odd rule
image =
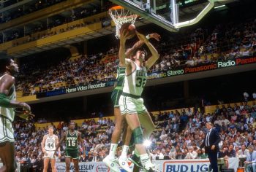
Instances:
[[[134,60],[126,59],[124,48],[122,49],[123,58],[121,63],[125,63],[126,77],[124,78],[124,89],[119,99],[121,114],[125,115],[129,128],[132,130],[132,137],[135,141],[135,148],[140,154],[140,161],[146,171],[156,171],[155,165],[151,163],[146,148],[143,146],[143,131],[140,126],[138,114],[148,114],[140,98],[143,87],[146,85],[147,69],[151,68],[159,58],[157,50],[148,42],[143,34],[137,33],[138,38],[143,41],[151,52],[151,57],[145,61],[145,52],[138,50],[133,56]],[[120,47],[125,47],[125,40]],[[120,51],[120,49],[119,49]]]

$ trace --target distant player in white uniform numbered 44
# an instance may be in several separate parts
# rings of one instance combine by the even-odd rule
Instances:
[[[56,145],[59,143],[58,136],[53,134],[53,126],[48,126],[48,134],[46,134],[42,138],[42,152],[44,153],[44,170],[43,172],[47,172],[48,164],[50,161],[51,169],[53,172],[55,172],[55,155],[54,152],[56,150]],[[61,157],[61,151],[58,149],[59,152],[59,158]]]

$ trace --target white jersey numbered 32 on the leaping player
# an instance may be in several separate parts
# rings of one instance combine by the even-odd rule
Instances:
[[[131,60],[131,63],[135,63]],[[132,71],[132,74],[127,75],[124,78],[124,93],[132,95],[141,95],[143,88],[147,81],[147,69],[146,67],[140,67],[135,63],[136,69]]]

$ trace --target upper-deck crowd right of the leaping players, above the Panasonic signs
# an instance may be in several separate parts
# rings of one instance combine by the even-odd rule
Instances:
[[[180,47],[173,46],[176,38],[162,42],[162,58],[153,71],[176,69],[178,66],[198,66],[217,60],[234,60],[255,55],[256,20],[244,23],[217,25],[210,34],[208,29],[197,28],[181,42]],[[164,37],[164,36],[163,36]],[[168,37],[168,36],[165,36]]]

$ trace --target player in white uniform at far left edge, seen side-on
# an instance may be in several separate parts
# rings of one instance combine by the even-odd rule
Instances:
[[[28,115],[30,114],[30,106],[27,103],[15,101],[15,73],[18,73],[18,65],[14,60],[0,59],[0,158],[3,162],[0,171],[6,172],[13,172],[16,168],[12,128],[14,108],[23,108]]]

